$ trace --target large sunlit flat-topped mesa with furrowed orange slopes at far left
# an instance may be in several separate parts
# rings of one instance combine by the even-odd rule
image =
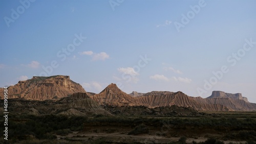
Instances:
[[[3,91],[3,88],[0,91]],[[69,76],[33,77],[9,86],[8,98],[43,101],[67,97],[76,92],[86,91],[80,84],[70,80]]]

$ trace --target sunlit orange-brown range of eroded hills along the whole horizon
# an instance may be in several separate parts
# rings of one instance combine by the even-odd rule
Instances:
[[[0,88],[3,93],[4,88]],[[73,93],[78,94],[79,97],[88,99],[81,103],[76,102],[72,105],[94,105],[97,102],[102,106],[145,106],[148,108],[179,106],[191,107],[198,111],[249,111],[256,110],[256,104],[249,103],[247,98],[242,97],[241,93],[231,94],[223,91],[213,91],[211,96],[203,99],[201,97],[189,97],[185,93],[170,92],[170,91],[152,91],[147,93],[133,92],[127,94],[120,90],[116,84],[108,85],[100,93],[95,94],[86,92],[81,85],[70,80],[69,76],[52,76],[52,77],[33,77],[27,81],[19,81],[18,84],[8,87],[8,98],[22,98],[26,100],[60,100],[68,101]],[[89,101],[90,99],[94,101]],[[1,98],[3,99],[3,98]],[[74,98],[73,98],[74,99]],[[90,104],[92,103],[92,104]],[[55,104],[54,104],[55,105]],[[73,109],[71,109],[73,110]],[[70,110],[70,111],[71,111]],[[71,112],[72,113],[72,112]]]

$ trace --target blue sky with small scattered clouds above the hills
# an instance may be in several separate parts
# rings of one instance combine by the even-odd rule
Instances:
[[[256,103],[256,1],[0,1],[0,87],[68,75],[86,91],[213,90]]]

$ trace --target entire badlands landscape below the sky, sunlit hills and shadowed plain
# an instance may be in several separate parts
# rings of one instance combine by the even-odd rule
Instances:
[[[1,143],[255,143],[256,104],[241,93],[208,98],[116,84],[87,92],[69,76],[33,77],[8,88],[8,141]],[[0,92],[4,93],[5,88]],[[1,98],[4,103],[4,98]],[[4,107],[0,108],[4,112]],[[4,119],[1,119],[4,123]],[[4,129],[4,125],[1,125]]]

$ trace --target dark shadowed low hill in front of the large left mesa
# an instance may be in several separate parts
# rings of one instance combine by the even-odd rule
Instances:
[[[3,100],[1,100],[2,102]],[[31,101],[25,99],[8,100],[9,110],[12,113],[26,113],[32,115],[62,114],[62,115],[87,115],[96,114],[112,115],[92,100],[87,93],[74,93],[70,97],[58,101]],[[0,108],[0,112],[4,112]]]

